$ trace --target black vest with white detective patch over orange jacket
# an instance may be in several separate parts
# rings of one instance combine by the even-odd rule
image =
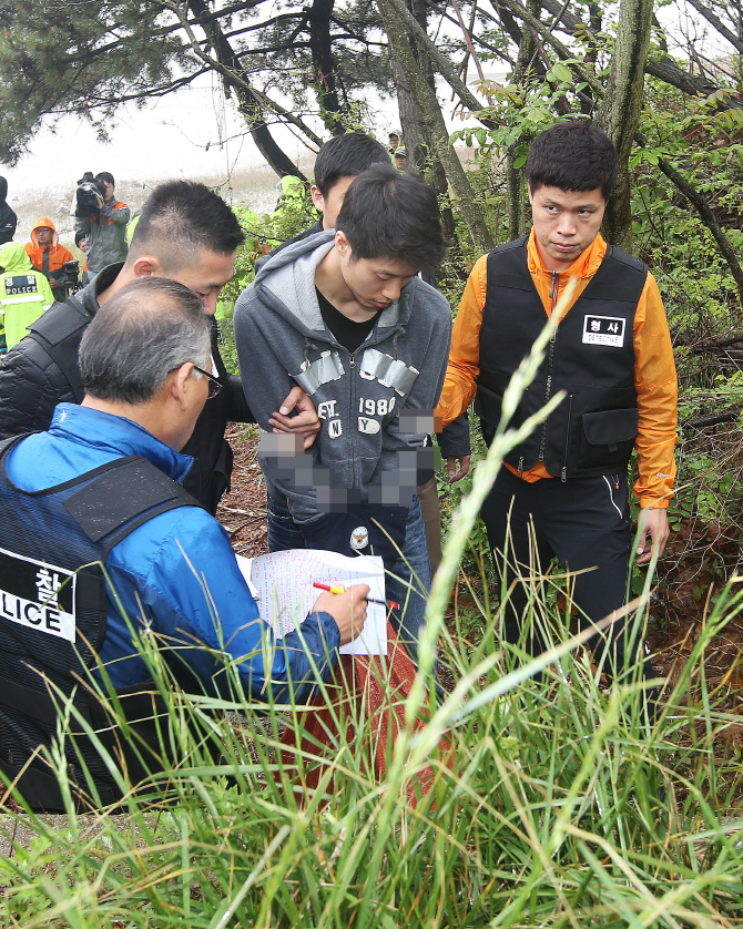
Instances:
[[[486,440],[500,421],[511,376],[547,323],[526,243],[520,238],[488,255],[475,401]],[[519,426],[560,390],[566,398],[507,456],[509,465],[527,471],[543,461],[562,480],[627,467],[638,433],[633,324],[647,276],[642,262],[607,247],[599,269],[558,326],[511,425]]]

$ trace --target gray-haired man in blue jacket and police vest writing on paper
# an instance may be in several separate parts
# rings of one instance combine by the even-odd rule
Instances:
[[[166,642],[197,690],[230,694],[226,652],[248,696],[287,702],[327,678],[366,614],[364,584],[323,594],[277,640],[227,533],[180,487],[191,465],[180,449],[220,389],[192,290],[164,278],[122,288],[85,330],[80,370],[81,406],[60,404],[48,432],[0,446],[0,769],[10,778],[57,731],[45,680],[71,694],[81,677],[100,678],[98,655],[115,688],[146,685],[133,634]],[[92,715],[95,702],[78,692]],[[98,754],[84,758],[105,789]],[[81,779],[72,751],[69,760]],[[59,808],[53,780],[37,757],[19,789],[32,806]]]

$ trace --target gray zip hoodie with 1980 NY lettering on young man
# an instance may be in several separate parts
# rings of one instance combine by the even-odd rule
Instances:
[[[415,450],[430,423],[413,422],[413,415],[436,407],[449,357],[449,304],[418,277],[379,314],[353,356],[338,344],[315,293],[315,269],[334,235],[322,232],[278,252],[235,305],[243,387],[262,428],[272,430],[276,397],[295,381],[312,396],[323,422],[294,471],[287,461],[277,468],[265,452],[258,458],[269,494],[296,522],[343,510],[345,500],[395,503],[400,469],[403,482],[415,488]]]

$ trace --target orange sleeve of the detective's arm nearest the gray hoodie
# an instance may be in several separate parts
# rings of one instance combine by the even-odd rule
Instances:
[[[488,256],[478,259],[467,280],[451,333],[451,350],[436,417],[448,426],[472,402],[480,372],[480,326],[487,289]]]

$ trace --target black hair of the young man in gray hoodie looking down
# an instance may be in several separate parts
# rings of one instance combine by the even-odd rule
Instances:
[[[400,174],[389,157],[348,187],[335,228],[345,233],[354,259],[400,258],[435,268],[449,246],[434,191],[419,175]]]

